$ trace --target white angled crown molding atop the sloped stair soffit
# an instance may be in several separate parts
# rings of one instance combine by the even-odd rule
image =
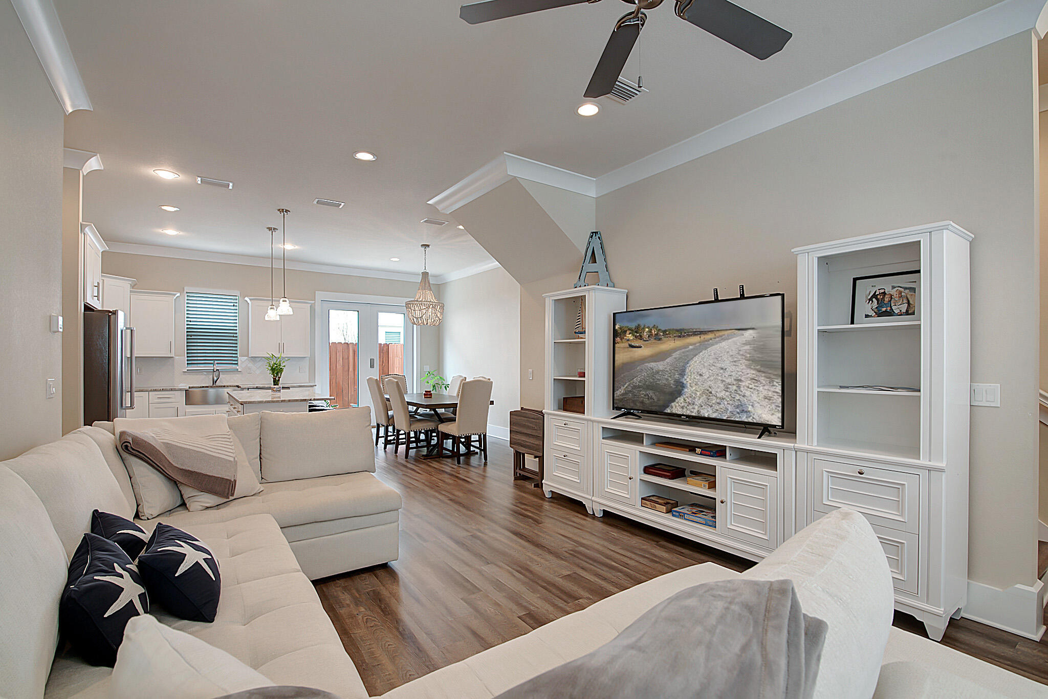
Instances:
[[[512,153],[503,153],[427,203],[436,206],[441,214],[451,214],[495,188],[505,184],[514,177],[551,184],[591,197],[596,196],[596,180],[592,177]]]

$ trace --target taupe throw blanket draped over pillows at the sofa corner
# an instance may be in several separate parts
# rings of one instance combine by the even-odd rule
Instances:
[[[233,433],[194,435],[163,428],[122,430],[121,449],[171,480],[198,490],[232,498],[237,487]]]

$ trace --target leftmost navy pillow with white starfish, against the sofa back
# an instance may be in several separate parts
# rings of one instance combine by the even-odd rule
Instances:
[[[69,562],[59,627],[92,665],[113,667],[124,627],[149,613],[149,595],[131,559],[113,542],[86,533]]]

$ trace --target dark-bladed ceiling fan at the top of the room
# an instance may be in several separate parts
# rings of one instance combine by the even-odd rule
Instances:
[[[484,0],[462,5],[459,17],[470,24],[480,24],[504,17],[527,15],[542,9],[577,5],[584,2],[599,2],[601,0]],[[627,13],[611,32],[608,45],[604,48],[601,61],[593,71],[587,97],[602,97],[610,94],[618,80],[619,73],[630,58],[633,45],[637,43],[640,29],[643,28],[647,16],[645,9],[653,9],[662,4],[662,0],[623,0],[633,5],[633,10]],[[691,22],[700,29],[705,29],[718,39],[722,39],[750,56],[764,60],[778,53],[793,36],[781,26],[743,9],[728,0],[674,0],[674,10],[677,17]]]

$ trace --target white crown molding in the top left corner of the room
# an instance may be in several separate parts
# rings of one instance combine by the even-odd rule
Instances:
[[[40,65],[44,67],[62,109],[66,114],[78,109],[90,111],[91,100],[69,50],[54,3],[51,0],[10,0],[10,4],[25,27],[29,43],[37,51]]]

